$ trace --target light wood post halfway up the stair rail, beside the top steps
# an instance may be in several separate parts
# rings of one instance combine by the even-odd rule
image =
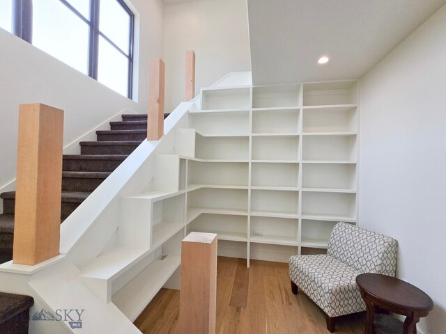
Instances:
[[[157,141],[164,133],[164,75],[164,61],[161,58],[150,58],[148,61],[148,141]]]

